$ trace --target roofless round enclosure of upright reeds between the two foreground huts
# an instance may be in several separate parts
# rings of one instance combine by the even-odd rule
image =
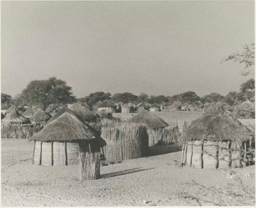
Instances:
[[[108,161],[129,160],[148,155],[147,127],[144,124],[106,120],[101,127]]]

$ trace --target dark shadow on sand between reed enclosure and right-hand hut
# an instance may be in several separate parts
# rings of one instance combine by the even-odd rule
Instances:
[[[181,151],[182,147],[178,144],[170,144],[170,145],[156,145],[150,147],[150,156],[160,155],[160,154],[168,154],[172,152]]]

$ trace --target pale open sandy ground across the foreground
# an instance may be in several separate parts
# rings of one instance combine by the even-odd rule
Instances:
[[[33,142],[2,139],[2,206],[255,205],[255,166],[180,167],[177,145],[102,166],[102,178],[83,183],[77,166],[32,165],[32,149]]]

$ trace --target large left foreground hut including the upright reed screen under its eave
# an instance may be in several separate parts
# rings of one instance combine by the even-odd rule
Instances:
[[[34,141],[33,164],[79,164],[83,180],[99,178],[100,148],[106,143],[76,116],[63,113],[29,140]]]

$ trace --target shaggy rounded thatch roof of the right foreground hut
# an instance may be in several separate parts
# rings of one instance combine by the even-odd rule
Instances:
[[[194,121],[181,137],[190,140],[241,141],[248,139],[248,129],[229,116],[206,114]]]

